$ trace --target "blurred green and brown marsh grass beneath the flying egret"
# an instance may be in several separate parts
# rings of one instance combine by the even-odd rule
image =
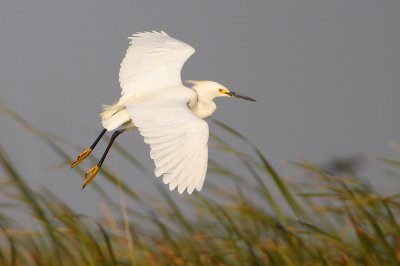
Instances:
[[[41,138],[66,165],[74,159],[55,136],[10,110],[3,112]],[[30,187],[0,146],[0,265],[400,264],[399,194],[378,194],[354,169],[336,169],[334,175],[309,162],[293,163],[306,172],[306,182],[289,183],[244,136],[214,123],[251,151],[243,153],[213,136],[213,148],[240,164],[239,175],[210,161],[210,173],[233,184],[231,188],[213,185],[208,178],[205,190],[212,193],[202,191],[176,202],[160,186],[164,203],[156,206],[105,168],[104,178],[126,201],[112,202],[91,184],[105,209],[120,213],[97,220],[76,213],[49,191]],[[122,147],[116,150],[140,167]],[[400,167],[400,161],[380,161],[394,173]],[[192,213],[182,210],[187,206]],[[34,226],[15,226],[9,214],[14,208],[24,209]]]

